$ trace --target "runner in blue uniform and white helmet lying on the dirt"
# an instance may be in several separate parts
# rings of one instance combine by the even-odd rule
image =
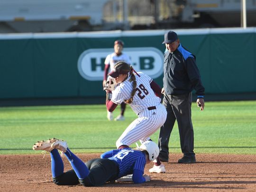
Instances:
[[[57,185],[100,186],[109,181],[132,174],[135,184],[150,181],[150,176],[144,175],[146,163],[155,160],[159,148],[155,142],[146,141],[133,150],[124,148],[110,150],[101,155],[101,159],[91,159],[84,163],[68,148],[66,142],[58,139],[37,142],[33,150],[46,150],[51,155],[53,181]],[[61,150],[69,160],[73,169],[64,172],[63,160],[58,152]]]

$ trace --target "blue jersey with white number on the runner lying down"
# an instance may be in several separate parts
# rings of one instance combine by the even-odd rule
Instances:
[[[119,178],[133,174],[133,170],[135,169],[144,173],[146,157],[145,154],[139,150],[132,150],[131,148],[112,150],[112,157],[108,159],[116,161],[119,165]]]

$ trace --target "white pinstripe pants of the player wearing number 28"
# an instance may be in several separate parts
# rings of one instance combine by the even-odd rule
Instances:
[[[162,104],[155,106],[156,109],[142,110],[135,119],[119,137],[116,142],[117,148],[121,145],[130,145],[138,140],[147,141],[149,136],[154,134],[162,125],[164,125],[167,112]]]

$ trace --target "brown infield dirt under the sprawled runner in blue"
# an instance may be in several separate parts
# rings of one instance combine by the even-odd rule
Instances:
[[[100,154],[77,154],[83,161],[99,158]],[[178,164],[182,154],[171,154],[164,163],[165,174],[145,174],[151,181],[144,184],[119,182],[101,187],[82,185],[58,186],[51,178],[51,158],[43,155],[0,155],[1,192],[255,192],[256,155],[197,154],[197,163]],[[64,171],[71,169],[66,158]]]

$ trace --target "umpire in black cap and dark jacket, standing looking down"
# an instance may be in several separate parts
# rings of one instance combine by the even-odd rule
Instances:
[[[169,31],[165,33],[164,58],[164,94],[163,105],[167,110],[167,119],[160,129],[159,158],[169,161],[169,138],[177,120],[183,158],[178,163],[196,162],[194,153],[194,132],[191,120],[192,90],[197,94],[197,106],[204,109],[204,87],[196,66],[195,56],[180,43],[178,35]]]

